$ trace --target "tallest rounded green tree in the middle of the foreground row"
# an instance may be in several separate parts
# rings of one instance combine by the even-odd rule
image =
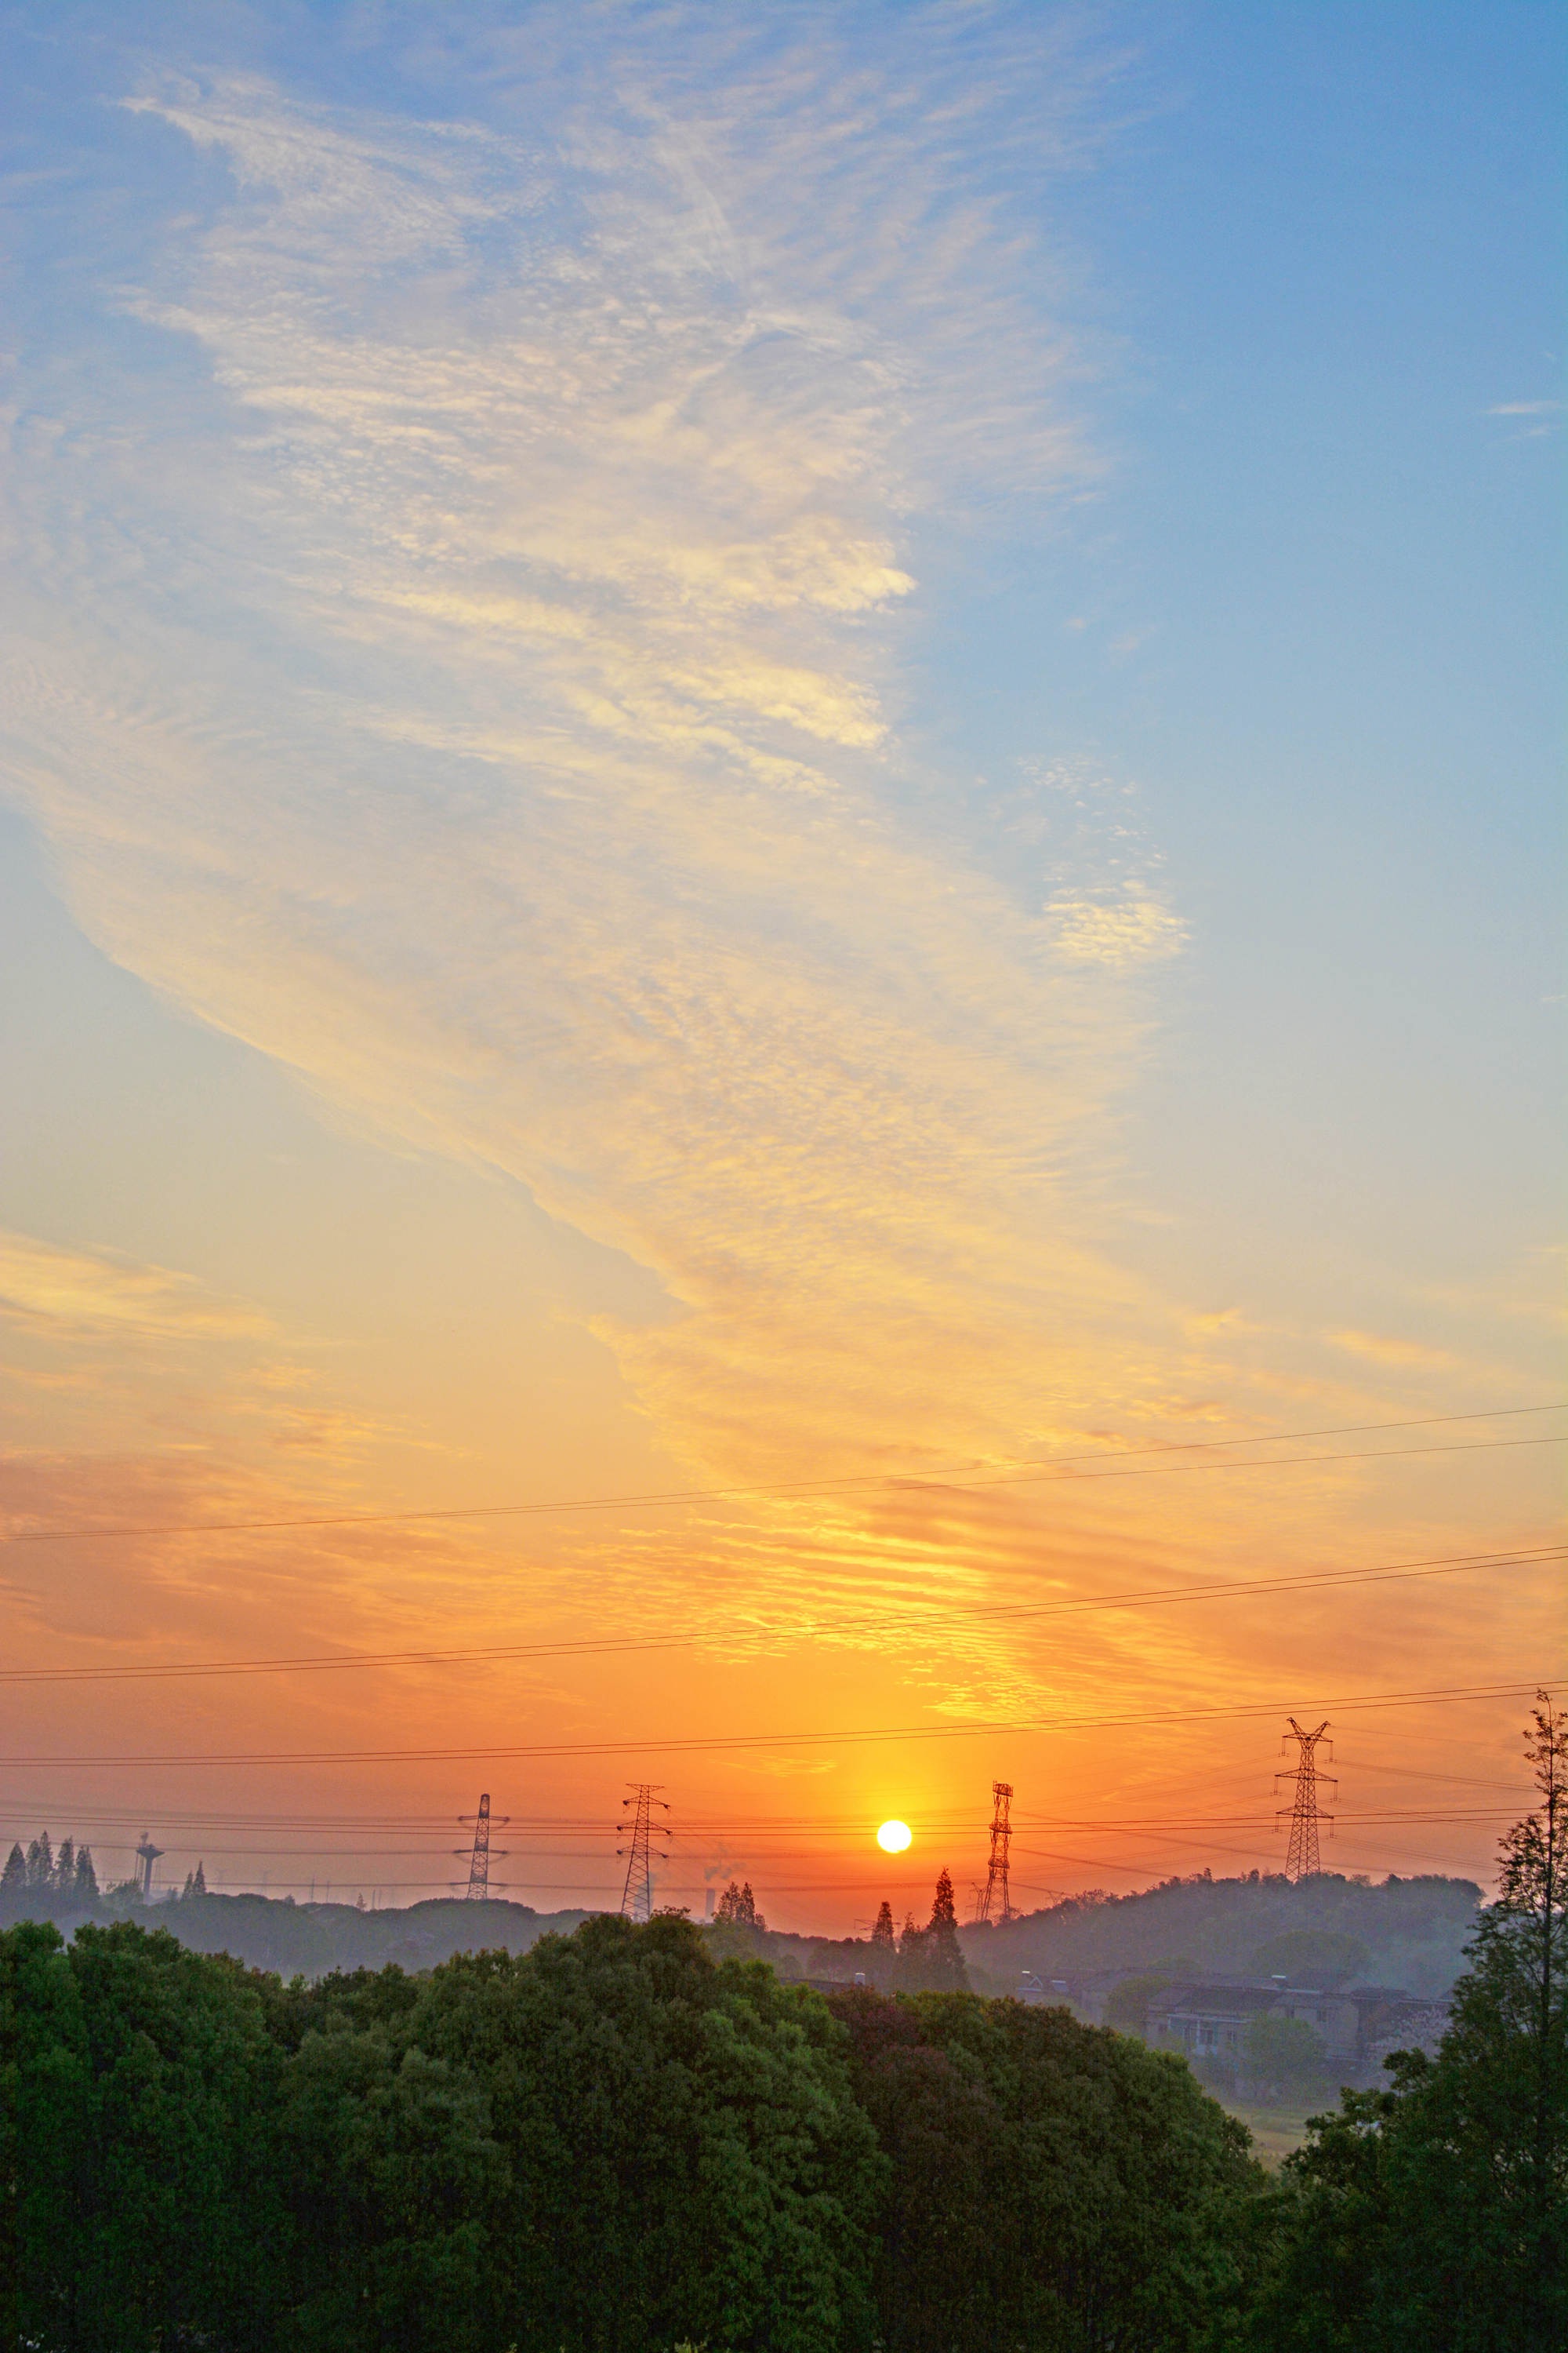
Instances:
[[[515,1960],[447,1962],[407,2038],[489,2085],[496,2346],[870,2341],[884,2169],[820,1995],[715,1960],[689,1920],[597,1915]],[[440,2320],[409,2341],[444,2353]]]

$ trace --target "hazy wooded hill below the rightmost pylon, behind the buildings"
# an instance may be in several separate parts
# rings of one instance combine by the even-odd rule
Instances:
[[[1479,1904],[1474,1880],[1201,1873],[1131,1897],[1067,1897],[1006,1927],[966,1927],[961,1941],[985,1993],[1011,1988],[1023,1969],[1044,1979],[1093,1969],[1286,1969],[1312,1984],[1321,1967],[1342,1984],[1439,1998],[1465,1967]]]

